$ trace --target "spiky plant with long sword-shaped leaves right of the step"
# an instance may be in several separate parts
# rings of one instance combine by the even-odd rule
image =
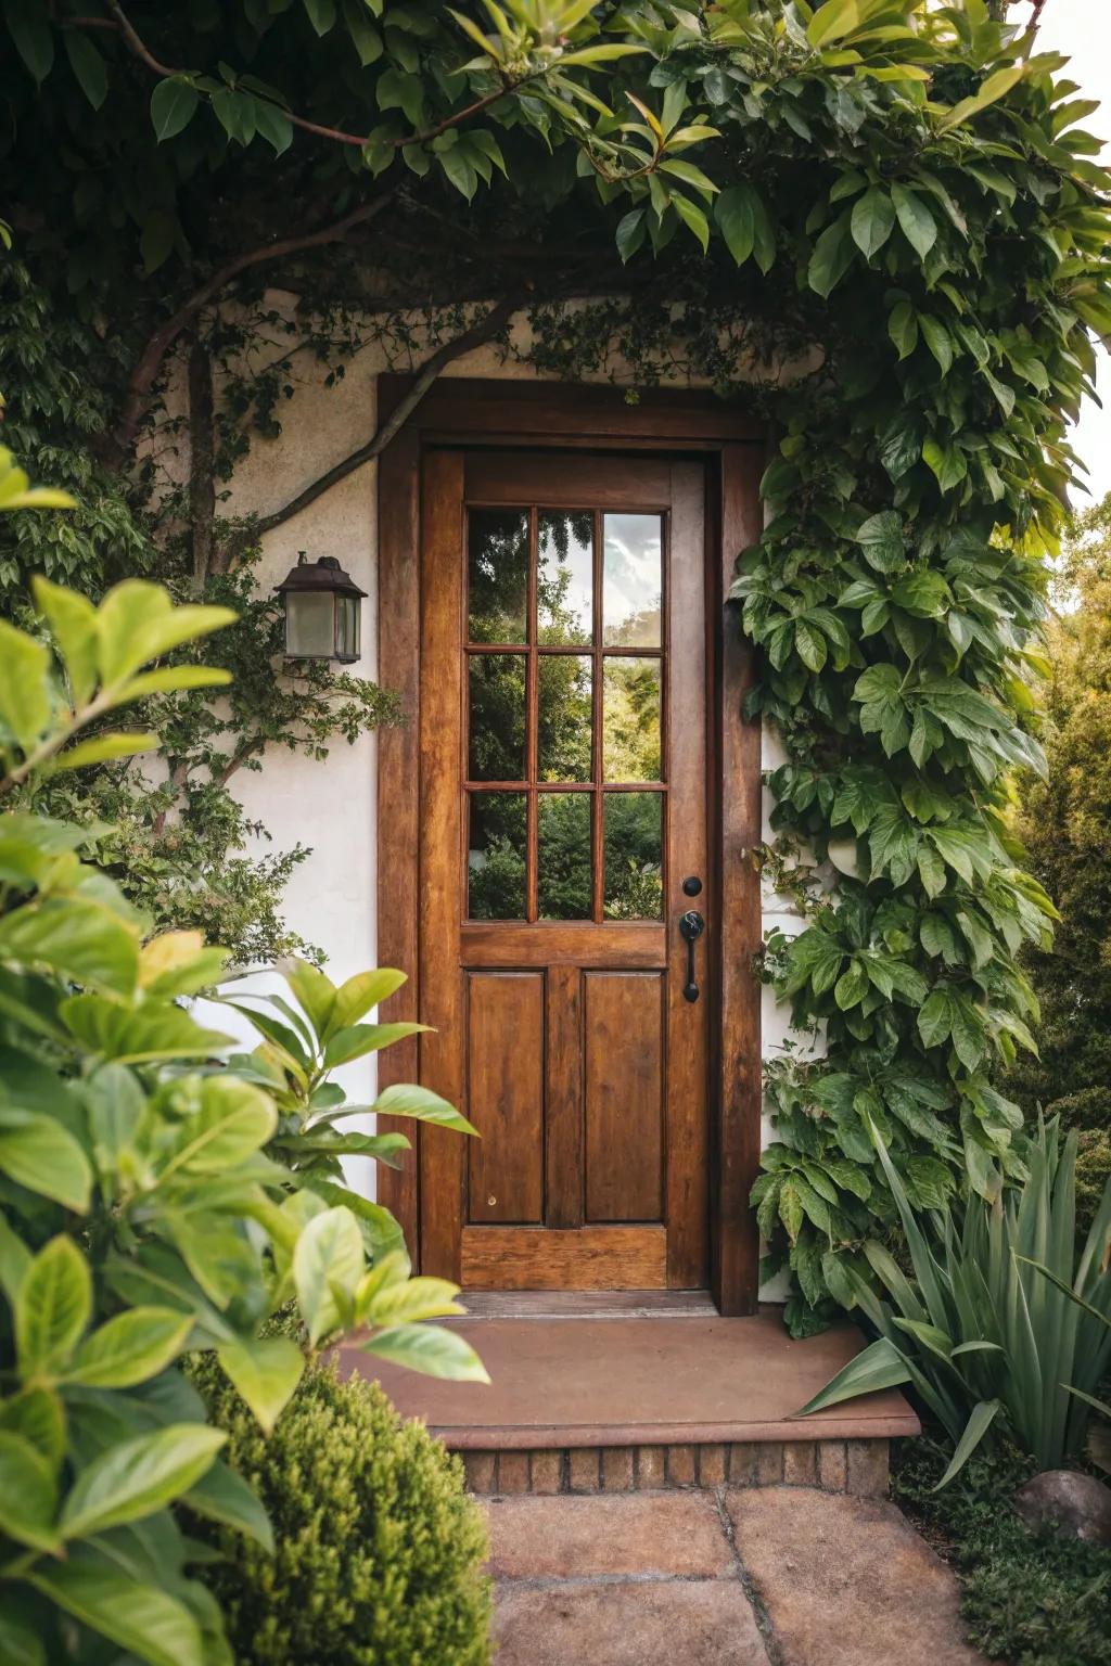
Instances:
[[[1021,1188],[989,1206],[969,1198],[963,1211],[938,1210],[924,1226],[878,1148],[914,1276],[881,1245],[864,1245],[891,1303],[849,1274],[879,1334],[805,1411],[909,1383],[956,1446],[943,1481],[996,1418],[1041,1468],[1076,1458],[1111,1358],[1111,1185],[1078,1254],[1076,1135],[1061,1148],[1056,1123],[1031,1140]]]

